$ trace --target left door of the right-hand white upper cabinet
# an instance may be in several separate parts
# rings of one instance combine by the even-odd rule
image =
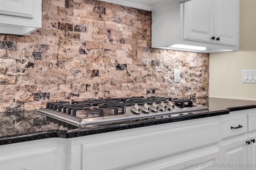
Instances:
[[[184,39],[212,42],[213,1],[191,0],[184,3]]]

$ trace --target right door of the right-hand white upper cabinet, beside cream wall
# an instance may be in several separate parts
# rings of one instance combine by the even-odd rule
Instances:
[[[239,0],[214,1],[215,43],[224,45],[238,44]]]

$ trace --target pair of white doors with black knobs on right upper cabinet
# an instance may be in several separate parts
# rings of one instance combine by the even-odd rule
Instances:
[[[184,3],[184,39],[236,46],[239,2],[191,0]]]

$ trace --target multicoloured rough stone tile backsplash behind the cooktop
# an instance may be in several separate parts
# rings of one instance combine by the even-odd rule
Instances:
[[[41,29],[0,34],[0,111],[56,100],[207,97],[208,54],[151,49],[151,21],[150,11],[97,0],[42,0]]]

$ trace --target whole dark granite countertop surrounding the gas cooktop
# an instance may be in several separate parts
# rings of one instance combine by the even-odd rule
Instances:
[[[256,108],[255,100],[236,100],[226,98],[197,98],[194,104],[209,107],[208,111],[198,114],[161,118],[138,119],[109,123],[105,125],[87,125],[83,128],[46,117],[36,110],[0,113],[0,145],[44,139],[50,137],[71,138],[123,129],[132,129],[176,121],[185,121],[203,117],[229,114],[230,111]]]

